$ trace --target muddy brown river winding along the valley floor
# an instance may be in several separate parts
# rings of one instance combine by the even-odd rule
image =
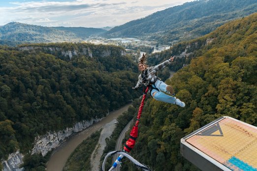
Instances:
[[[122,107],[119,110],[110,112],[110,114],[101,121],[68,138],[64,143],[54,150],[47,163],[47,171],[62,171],[69,155],[81,142],[83,142],[83,140],[91,136],[92,133],[96,132],[107,123],[117,119],[119,115],[128,110],[129,106],[130,104]]]

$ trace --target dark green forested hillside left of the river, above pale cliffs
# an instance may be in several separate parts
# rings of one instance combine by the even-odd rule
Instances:
[[[90,47],[94,56],[63,60],[48,51],[0,46],[0,159],[17,149],[29,152],[38,135],[101,118],[139,95],[131,89],[137,66],[121,55],[123,48],[82,43],[34,47],[39,45]],[[97,55],[106,50],[108,56]]]

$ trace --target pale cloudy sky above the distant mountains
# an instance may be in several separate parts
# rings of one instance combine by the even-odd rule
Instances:
[[[0,0],[0,26],[114,27],[193,0]]]

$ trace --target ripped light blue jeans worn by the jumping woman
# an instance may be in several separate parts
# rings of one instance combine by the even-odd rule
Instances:
[[[154,99],[161,101],[161,102],[165,102],[165,103],[171,103],[171,104],[175,104],[176,101],[176,97],[172,97],[169,96],[161,91],[167,92],[166,91],[166,87],[168,85],[166,85],[164,82],[162,82],[161,80],[157,80],[155,82],[154,85],[152,85],[155,88],[158,88],[160,91],[158,91],[157,89],[152,89],[151,91],[151,95],[152,97],[154,97]],[[156,92],[156,93],[155,93]],[[155,95],[153,96],[153,94],[155,93]]]

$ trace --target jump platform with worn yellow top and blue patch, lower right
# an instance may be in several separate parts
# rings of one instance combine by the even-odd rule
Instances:
[[[257,127],[223,116],[182,138],[181,154],[202,171],[257,171]]]

